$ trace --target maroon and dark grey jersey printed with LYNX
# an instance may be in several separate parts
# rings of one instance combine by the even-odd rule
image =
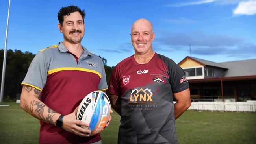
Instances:
[[[109,92],[121,97],[119,144],[176,144],[173,93],[189,88],[173,60],[155,54],[147,64],[134,56],[113,70]]]

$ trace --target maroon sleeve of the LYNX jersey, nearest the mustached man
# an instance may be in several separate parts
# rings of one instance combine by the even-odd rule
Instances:
[[[116,66],[112,72],[110,83],[109,83],[109,93],[113,95],[119,95],[119,66]]]

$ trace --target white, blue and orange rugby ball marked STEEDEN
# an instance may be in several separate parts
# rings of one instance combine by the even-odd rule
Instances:
[[[78,107],[76,119],[89,124],[90,127],[82,127],[90,129],[90,135],[96,135],[104,129],[109,116],[110,101],[108,96],[102,91],[93,91],[83,98]]]

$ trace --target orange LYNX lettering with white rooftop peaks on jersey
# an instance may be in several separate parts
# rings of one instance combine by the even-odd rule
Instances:
[[[153,101],[152,96],[153,96],[153,93],[151,92],[151,89],[148,89],[148,88],[146,88],[145,90],[143,90],[142,88],[140,90],[133,89],[130,95],[130,101],[131,102],[133,101],[152,102]]]

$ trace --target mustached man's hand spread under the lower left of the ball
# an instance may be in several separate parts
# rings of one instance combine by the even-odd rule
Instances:
[[[89,127],[89,124],[76,119],[77,111],[78,107],[76,107],[76,109],[72,113],[63,117],[62,128],[66,131],[69,131],[70,133],[79,135],[80,137],[89,137],[91,131],[89,129],[84,129],[83,127],[81,127]]]

